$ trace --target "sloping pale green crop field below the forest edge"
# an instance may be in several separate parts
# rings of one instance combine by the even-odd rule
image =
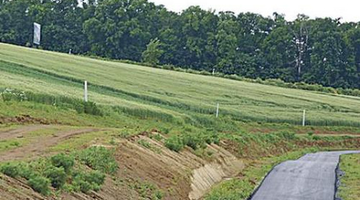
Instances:
[[[150,110],[181,120],[214,120],[360,126],[360,98],[266,86],[42,51],[0,43],[0,88],[81,99],[102,105]]]

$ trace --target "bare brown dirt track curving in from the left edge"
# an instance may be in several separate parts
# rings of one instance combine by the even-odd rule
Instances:
[[[45,153],[45,150],[47,148],[51,146],[55,146],[62,141],[65,141],[77,135],[81,135],[89,132],[96,132],[100,130],[101,129],[90,129],[90,128],[77,129],[71,131],[58,132],[55,135],[51,135],[51,136],[38,137],[25,146],[0,153],[0,162],[39,157]]]

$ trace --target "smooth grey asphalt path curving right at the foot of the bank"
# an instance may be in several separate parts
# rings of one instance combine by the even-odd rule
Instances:
[[[339,157],[354,153],[360,151],[318,152],[285,161],[270,171],[251,200],[334,200]]]

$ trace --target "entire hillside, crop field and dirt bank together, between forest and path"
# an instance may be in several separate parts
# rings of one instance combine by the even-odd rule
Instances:
[[[359,102],[0,43],[0,194],[245,200],[281,161],[358,149]]]

